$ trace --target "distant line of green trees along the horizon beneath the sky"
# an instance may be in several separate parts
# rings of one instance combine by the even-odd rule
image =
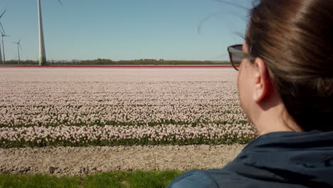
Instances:
[[[6,61],[5,65],[17,65],[18,61],[11,60]],[[218,64],[229,64],[229,61],[174,61],[174,60],[164,60],[164,59],[137,59],[137,60],[122,60],[122,61],[112,61],[110,59],[97,58],[95,60],[72,60],[72,61],[48,61],[48,66],[127,66],[127,65],[218,65]],[[20,65],[38,65],[38,61],[21,61]]]

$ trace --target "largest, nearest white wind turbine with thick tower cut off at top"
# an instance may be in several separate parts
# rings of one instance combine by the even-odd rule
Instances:
[[[58,0],[61,5],[60,0]],[[38,4],[38,27],[39,27],[39,66],[46,65],[46,53],[45,53],[45,43],[44,43],[44,33],[43,33],[43,20],[41,14],[41,0],[37,0]]]

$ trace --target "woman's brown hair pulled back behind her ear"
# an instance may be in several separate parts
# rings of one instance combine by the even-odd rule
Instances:
[[[305,131],[333,130],[333,0],[261,0],[245,42],[263,58],[287,113]]]

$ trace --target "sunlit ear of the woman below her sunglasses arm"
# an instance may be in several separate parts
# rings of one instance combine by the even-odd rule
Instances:
[[[266,68],[265,61],[262,58],[255,58],[254,62],[254,88],[253,88],[253,100],[255,103],[260,103],[271,94],[270,77]]]

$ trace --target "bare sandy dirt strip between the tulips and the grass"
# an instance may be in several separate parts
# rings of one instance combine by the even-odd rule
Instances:
[[[95,172],[211,169],[245,145],[44,147],[0,149],[0,173],[80,176]]]

